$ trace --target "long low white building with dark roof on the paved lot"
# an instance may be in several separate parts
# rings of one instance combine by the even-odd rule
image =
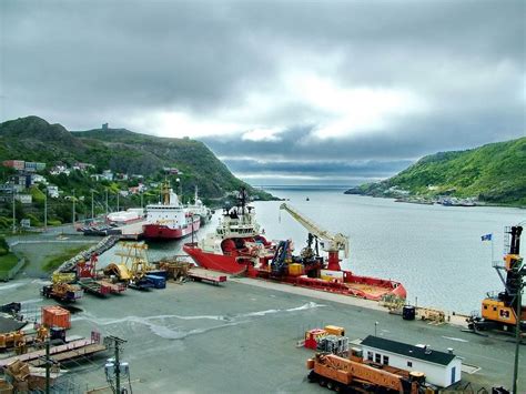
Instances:
[[[453,350],[448,353],[424,345],[408,345],[370,335],[362,341],[364,360],[409,372],[423,372],[426,382],[439,387],[448,387],[461,381],[462,361]]]

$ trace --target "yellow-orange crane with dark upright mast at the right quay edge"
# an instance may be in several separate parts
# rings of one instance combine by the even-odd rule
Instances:
[[[523,228],[520,225],[505,229],[507,235],[505,247],[508,249],[508,253],[504,255],[503,262],[493,263],[503,281],[504,291],[487,294],[487,297],[482,302],[481,315],[474,313],[467,319],[469,330],[513,332],[518,316],[520,331],[526,331],[526,306],[519,304],[520,292],[524,286],[523,277],[526,275],[526,266],[519,255],[522,232]]]

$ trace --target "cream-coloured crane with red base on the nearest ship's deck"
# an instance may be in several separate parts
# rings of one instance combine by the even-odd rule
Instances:
[[[328,253],[327,270],[341,271],[338,253],[343,251],[344,257],[348,257],[348,238],[341,233],[330,233],[286,203],[282,203],[280,210],[289,212],[296,222],[320,241],[322,249]]]

